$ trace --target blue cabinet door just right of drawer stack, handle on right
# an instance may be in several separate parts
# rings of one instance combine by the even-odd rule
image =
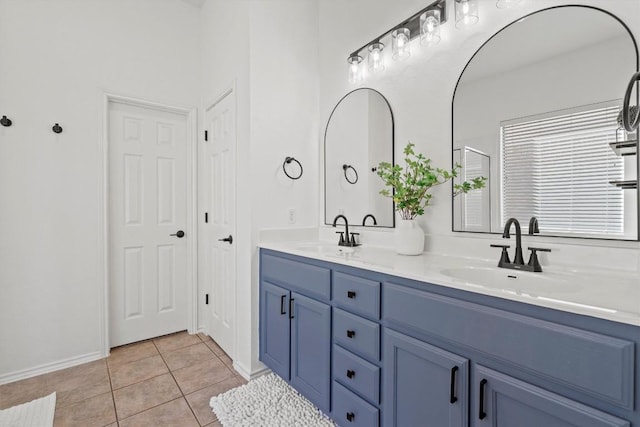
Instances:
[[[467,359],[385,328],[385,426],[468,425]]]

